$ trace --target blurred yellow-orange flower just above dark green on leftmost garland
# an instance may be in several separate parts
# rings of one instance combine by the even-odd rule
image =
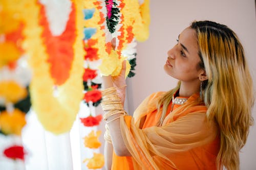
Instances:
[[[28,95],[27,89],[18,85],[15,81],[0,82],[0,96],[6,102],[16,103]]]

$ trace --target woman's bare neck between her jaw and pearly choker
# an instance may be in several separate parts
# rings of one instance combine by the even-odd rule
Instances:
[[[195,82],[181,82],[179,96],[189,97],[192,94],[198,93],[200,91],[200,81]]]

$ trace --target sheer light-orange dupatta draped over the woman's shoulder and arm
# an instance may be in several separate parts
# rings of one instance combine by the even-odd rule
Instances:
[[[177,169],[170,156],[207,144],[218,134],[215,123],[206,121],[207,108],[200,106],[198,94],[190,96],[183,106],[168,114],[161,127],[140,129],[140,119],[156,110],[161,94],[158,92],[145,99],[136,109],[134,118],[120,118],[122,137],[132,155],[128,158],[134,169]],[[157,114],[156,119],[159,118]]]

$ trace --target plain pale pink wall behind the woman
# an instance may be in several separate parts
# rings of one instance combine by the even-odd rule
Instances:
[[[254,0],[184,0],[151,1],[150,38],[137,46],[136,76],[127,80],[130,113],[149,94],[166,91],[176,80],[163,70],[166,53],[175,43],[178,34],[193,20],[214,20],[224,23],[240,37],[254,87],[256,84],[256,22]],[[256,88],[255,88],[256,89]],[[253,111],[256,120],[256,108]],[[256,169],[256,127],[252,127],[241,153],[241,169]]]

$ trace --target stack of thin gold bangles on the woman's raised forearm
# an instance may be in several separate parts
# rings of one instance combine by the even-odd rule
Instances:
[[[124,115],[127,113],[123,110],[123,106],[121,103],[121,100],[118,97],[117,89],[116,87],[111,87],[105,90],[102,90],[102,101],[101,101],[101,107],[102,110],[105,112],[103,114],[103,119],[106,121],[106,131],[104,134],[104,139],[110,143],[112,143],[110,133],[109,133],[109,127],[108,124]],[[115,114],[119,114],[119,116],[114,117],[113,119],[109,120],[110,116],[113,116]]]

